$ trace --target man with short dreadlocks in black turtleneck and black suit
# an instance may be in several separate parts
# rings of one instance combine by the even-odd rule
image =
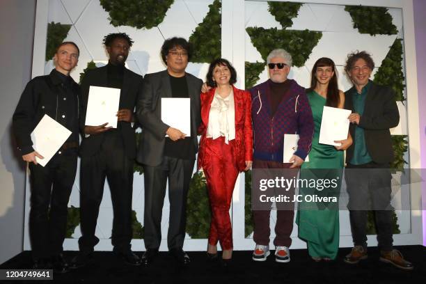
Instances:
[[[90,70],[81,82],[82,115],[81,172],[80,172],[80,253],[71,268],[83,267],[93,259],[93,248],[99,242],[95,236],[97,216],[108,178],[113,205],[113,251],[129,265],[139,265],[139,258],[131,251],[133,164],[136,155],[134,106],[142,88],[142,77],[127,68],[125,61],[133,41],[125,33],[110,33],[104,38],[109,54],[107,66]],[[120,106],[117,128],[85,125],[90,86],[119,88]]]

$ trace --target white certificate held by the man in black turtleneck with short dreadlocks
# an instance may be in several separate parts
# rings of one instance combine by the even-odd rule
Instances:
[[[120,89],[90,86],[84,125],[103,125],[117,128]]]

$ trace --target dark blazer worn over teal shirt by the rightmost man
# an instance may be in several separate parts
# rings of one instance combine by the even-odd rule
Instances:
[[[352,87],[345,92],[345,109],[354,111]],[[365,145],[373,161],[377,164],[388,164],[393,161],[393,147],[389,128],[400,122],[400,113],[395,102],[395,93],[391,88],[372,83],[365,98],[363,116],[359,127],[364,129]],[[349,126],[349,132],[355,138],[356,125]],[[354,143],[346,151],[346,162],[350,163],[354,156]]]

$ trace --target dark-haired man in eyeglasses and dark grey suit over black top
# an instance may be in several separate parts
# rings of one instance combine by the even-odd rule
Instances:
[[[161,242],[161,212],[168,179],[170,217],[167,246],[182,265],[189,256],[182,250],[187,211],[187,193],[198,150],[200,90],[203,81],[185,72],[191,59],[191,46],[184,38],[169,38],[161,47],[167,69],[146,74],[136,113],[143,131],[137,160],[143,164],[145,184],[145,248],[142,262],[149,265]],[[161,120],[161,98],[190,99],[191,131],[183,133]],[[176,109],[175,111],[179,111]]]

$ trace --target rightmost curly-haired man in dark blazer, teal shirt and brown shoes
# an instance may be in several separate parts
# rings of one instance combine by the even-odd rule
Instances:
[[[347,149],[345,179],[354,248],[345,262],[356,264],[367,258],[367,213],[374,210],[380,260],[413,269],[393,248],[392,239],[389,167],[393,148],[389,129],[398,125],[400,114],[393,90],[369,80],[373,69],[374,61],[367,52],[349,54],[345,71],[354,86],[345,93],[345,109],[352,110],[349,131],[354,143]]]

